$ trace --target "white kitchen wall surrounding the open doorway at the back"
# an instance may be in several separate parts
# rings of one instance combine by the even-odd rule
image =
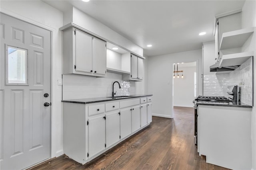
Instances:
[[[148,94],[153,94],[152,114],[172,118],[173,63],[196,61],[198,95],[202,95],[202,50],[186,51],[148,58]],[[200,76],[199,76],[200,75]],[[192,102],[192,101],[191,101]]]

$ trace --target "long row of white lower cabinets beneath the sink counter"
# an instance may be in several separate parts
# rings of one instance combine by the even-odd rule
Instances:
[[[146,98],[80,104],[63,102],[64,154],[85,164],[152,121]],[[144,101],[145,100],[145,101]]]

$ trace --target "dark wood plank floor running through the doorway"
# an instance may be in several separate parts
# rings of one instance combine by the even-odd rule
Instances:
[[[174,107],[174,119],[153,117],[150,127],[87,165],[65,155],[32,170],[227,170],[207,164],[194,145],[194,109]]]

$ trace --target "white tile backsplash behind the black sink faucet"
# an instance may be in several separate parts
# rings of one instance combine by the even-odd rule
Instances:
[[[116,96],[135,95],[135,82],[122,80],[121,74],[107,73],[107,77],[93,77],[77,74],[63,75],[63,100],[112,96],[112,84]]]

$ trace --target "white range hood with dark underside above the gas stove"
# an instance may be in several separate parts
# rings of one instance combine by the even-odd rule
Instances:
[[[219,63],[210,66],[210,71],[219,72],[235,70],[253,55],[253,51],[223,55]]]

